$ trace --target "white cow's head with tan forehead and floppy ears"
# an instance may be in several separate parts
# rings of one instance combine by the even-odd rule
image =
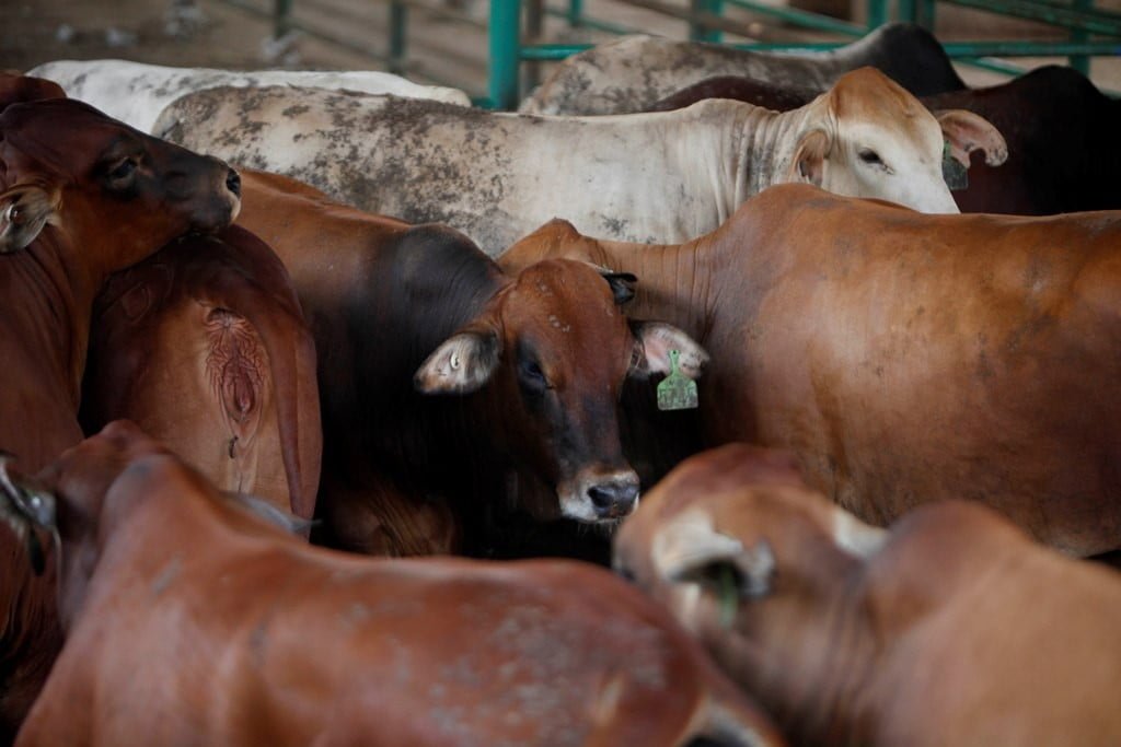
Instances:
[[[979,148],[991,166],[1008,157],[1004,139],[984,119],[962,111],[935,118],[871,67],[845,74],[803,111],[786,178],[840,195],[957,213],[943,177],[945,149],[965,166],[969,152]]]

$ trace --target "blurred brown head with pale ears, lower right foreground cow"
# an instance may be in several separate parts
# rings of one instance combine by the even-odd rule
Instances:
[[[846,572],[886,538],[807,487],[793,458],[733,443],[656,485],[615,534],[612,562],[781,716],[795,698],[784,688],[815,681],[807,669],[835,643],[821,624]]]

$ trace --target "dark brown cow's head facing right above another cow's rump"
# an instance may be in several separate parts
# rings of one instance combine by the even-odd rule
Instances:
[[[106,273],[187,231],[217,231],[240,207],[238,174],[221,161],[66,99],[3,110],[0,164],[4,184],[56,196],[61,230]]]

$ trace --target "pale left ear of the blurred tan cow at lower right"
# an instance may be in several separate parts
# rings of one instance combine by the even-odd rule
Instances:
[[[760,540],[750,548],[717,532],[701,511],[682,514],[654,538],[655,570],[670,583],[700,583],[736,598],[757,599],[770,594],[775,578],[775,553]]]

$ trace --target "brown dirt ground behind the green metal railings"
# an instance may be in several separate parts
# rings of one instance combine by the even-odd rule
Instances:
[[[265,10],[272,0],[240,0]],[[427,4],[410,11],[406,74],[419,82],[438,82],[466,90],[487,91],[489,3],[483,0],[420,0]],[[686,0],[677,0],[683,7]],[[856,0],[853,0],[854,2]],[[177,4],[196,3],[201,17],[174,12]],[[1100,0],[1099,7],[1121,4]],[[585,0],[590,16],[677,38],[685,24],[611,0]],[[294,0],[295,19],[309,27],[343,37],[350,47],[319,41],[297,31],[287,44],[271,43],[271,21],[220,0],[2,0],[0,68],[27,69],[52,59],[118,57],[164,65],[252,69],[300,67],[318,69],[387,69],[388,6],[376,0]],[[450,12],[455,8],[462,12]],[[740,13],[736,17],[736,13]],[[944,40],[965,38],[1047,38],[1046,27],[1000,19],[948,6],[939,6],[937,34]],[[731,10],[728,16],[750,21],[750,15]],[[464,20],[465,17],[465,20]],[[758,27],[758,25],[757,25]],[[546,40],[596,41],[609,38],[594,30],[573,30],[559,19],[546,22]],[[768,39],[805,38],[781,28],[761,28]],[[1043,59],[1021,60],[1028,66]],[[1063,62],[1063,60],[1056,60]],[[1000,82],[988,73],[962,68],[973,85]],[[1121,59],[1096,59],[1093,80],[1121,88]]]

